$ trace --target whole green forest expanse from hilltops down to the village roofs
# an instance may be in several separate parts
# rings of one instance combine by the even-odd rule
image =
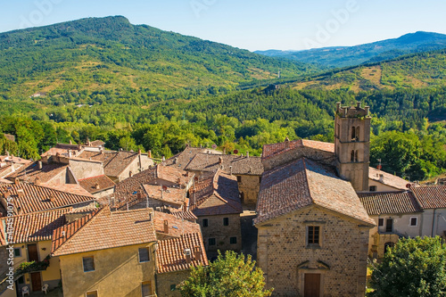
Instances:
[[[0,137],[0,153],[38,159],[89,138],[156,157],[186,144],[260,155],[286,136],[333,142],[335,103],[359,101],[372,112],[371,166],[410,180],[446,170],[444,51],[321,73],[122,17],[0,40],[0,132],[17,140]]]

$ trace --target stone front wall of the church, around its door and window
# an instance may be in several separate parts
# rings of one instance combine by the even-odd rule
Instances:
[[[308,226],[320,244],[307,244]],[[257,263],[273,296],[303,296],[305,274],[320,274],[320,296],[364,297],[369,227],[311,206],[258,224]]]

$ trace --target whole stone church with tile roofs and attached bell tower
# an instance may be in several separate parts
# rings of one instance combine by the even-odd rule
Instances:
[[[358,193],[384,186],[369,178],[369,145],[368,107],[337,103],[335,144],[263,147],[254,226],[257,263],[274,296],[364,296],[376,223]]]

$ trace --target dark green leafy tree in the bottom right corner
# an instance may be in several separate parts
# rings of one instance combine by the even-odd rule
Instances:
[[[401,240],[373,270],[373,297],[446,296],[446,245],[442,238]]]

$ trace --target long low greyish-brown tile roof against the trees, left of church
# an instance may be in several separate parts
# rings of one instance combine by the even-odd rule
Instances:
[[[186,166],[186,170],[211,171],[222,169],[235,175],[257,175],[263,173],[260,157],[246,157],[235,154],[197,153]]]

